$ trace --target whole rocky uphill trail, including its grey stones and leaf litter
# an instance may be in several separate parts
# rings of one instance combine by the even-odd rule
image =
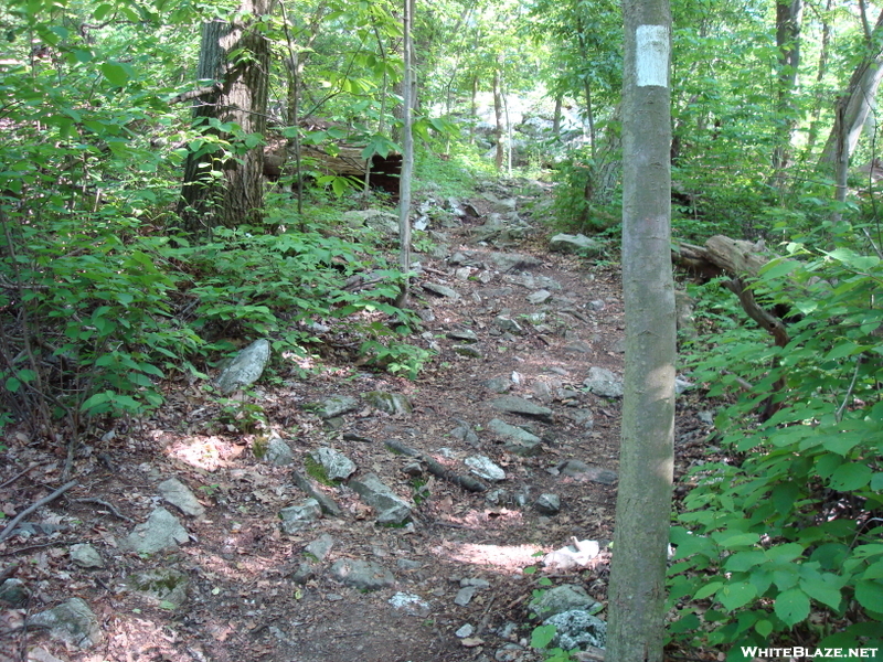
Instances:
[[[543,195],[421,207],[416,342],[439,353],[415,381],[317,322],[323,357],[274,356],[249,395],[174,384],[95,430],[76,484],[0,533],[0,662],[529,662],[536,611],[595,628],[623,301],[604,255],[550,250]],[[681,463],[708,423],[679,407]],[[4,444],[10,522],[61,485],[64,445]]]

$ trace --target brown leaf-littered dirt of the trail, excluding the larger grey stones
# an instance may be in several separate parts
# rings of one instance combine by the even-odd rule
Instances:
[[[472,203],[480,213],[487,209],[486,201]],[[489,248],[470,243],[468,225],[447,232],[450,253],[518,250],[539,265],[509,273],[479,267],[459,279],[447,257],[425,258],[428,268],[415,292],[419,307],[433,312],[425,316],[432,321],[423,338],[436,342],[440,354],[413,382],[355,366],[343,348],[327,354],[318,372],[279,371],[273,384],[253,387],[256,396],[247,402],[263,407],[268,426],[294,451],[292,465],[257,459],[259,430],[240,429],[249,409],[231,415],[230,405],[225,412],[200,383],[170,384],[167,405],[149,419],[117,424],[113,434],[96,430],[77,455],[77,484],[30,515],[30,530],[0,543],[0,572],[20,579],[28,595],[22,604],[0,602],[0,662],[529,662],[542,659],[528,645],[534,624],[529,602],[540,577],[582,586],[604,604],[606,553],[585,568],[523,570],[541,565],[538,554],[574,537],[613,537],[615,481],[596,482],[592,472],[572,478],[556,468],[573,459],[618,469],[621,401],[583,386],[593,366],[623,374],[618,270],[549,253],[539,234],[518,246]],[[426,281],[459,297],[435,297],[421,287]],[[528,299],[541,289],[538,284],[553,282],[561,287],[545,288],[546,301]],[[523,321],[538,312],[545,313],[545,325]],[[501,330],[501,314],[521,320],[521,332]],[[455,331],[475,333],[480,356],[458,354],[459,341],[448,338]],[[406,395],[413,412],[391,415],[368,406],[363,396],[372,391]],[[531,419],[501,412],[492,404],[500,391],[552,415]],[[360,405],[330,424],[305,407],[340,395]],[[688,399],[679,398],[678,407],[680,468],[701,455],[708,433],[698,418],[701,406]],[[530,429],[542,439],[540,452],[507,451],[488,427],[492,419]],[[460,434],[451,435],[458,427]],[[476,437],[464,434],[469,428]],[[469,473],[465,458],[486,456],[506,479],[481,493],[429,473],[415,480],[403,471],[414,458],[391,452],[384,444],[390,439],[461,474]],[[4,444],[0,506],[12,516],[60,484],[64,445],[24,431]],[[338,485],[321,489],[338,503],[340,516],[283,532],[279,511],[306,499],[292,469],[304,471],[319,447],[345,455],[357,476],[376,474],[411,503],[416,485],[421,496],[411,523],[377,525],[373,509]],[[153,555],[125,551],[121,541],[162,505],[158,484],[169,478],[188,485],[205,509],[191,517],[175,511],[189,540]],[[558,513],[534,506],[542,494],[560,498]],[[84,543],[99,552],[102,567],[72,560],[72,546]],[[393,580],[377,590],[347,587],[330,572],[342,558],[375,562]],[[131,589],[132,574],[160,568],[187,579],[177,608]],[[457,596],[468,585],[475,595],[462,604]],[[396,608],[396,594],[419,602]],[[88,648],[50,638],[26,620],[72,597],[88,605],[100,630]],[[24,623],[30,624],[23,629]]]

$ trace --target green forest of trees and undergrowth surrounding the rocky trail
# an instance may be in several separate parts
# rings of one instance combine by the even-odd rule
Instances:
[[[674,259],[695,266],[714,235],[752,242],[764,258],[746,291],[769,317],[746,323],[728,277],[682,275],[699,333],[680,369],[720,398],[727,455],[688,478],[670,634],[733,656],[880,645],[883,8],[672,11]],[[418,376],[433,356],[394,305],[406,274],[389,241],[342,222],[395,209],[401,13],[0,9],[0,431],[28,426],[70,468],[96,420],[160,407],[168,383],[206,378],[256,338],[296,364],[319,351],[320,321],[360,361]],[[617,263],[621,32],[608,0],[417,3],[414,188],[552,181],[550,229],[597,235]],[[373,287],[353,287],[364,274]]]

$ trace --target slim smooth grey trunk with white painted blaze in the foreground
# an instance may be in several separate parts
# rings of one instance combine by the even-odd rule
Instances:
[[[623,287],[626,373],[607,659],[660,662],[674,429],[671,13],[625,0]]]

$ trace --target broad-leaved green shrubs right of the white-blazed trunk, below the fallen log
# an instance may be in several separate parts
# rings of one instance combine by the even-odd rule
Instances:
[[[791,631],[820,647],[880,645],[883,631],[883,263],[788,249],[754,285],[789,307],[788,345],[721,325],[695,366],[709,395],[733,388],[734,375],[753,389],[715,420],[740,461],[696,467],[672,528],[671,598],[712,608],[699,619],[688,602],[671,632],[702,631],[710,645],[732,644],[731,659]],[[780,408],[752,424],[768,397]]]

